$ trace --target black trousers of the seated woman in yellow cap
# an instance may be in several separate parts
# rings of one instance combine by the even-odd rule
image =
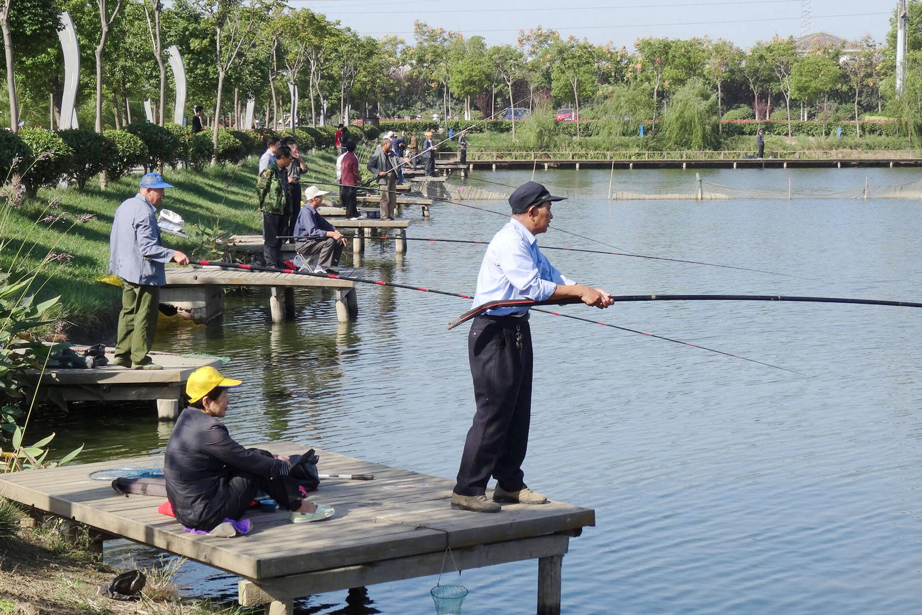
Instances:
[[[266,452],[266,455],[269,453]],[[215,499],[208,503],[202,514],[202,522],[195,529],[211,531],[224,519],[241,519],[259,490],[266,491],[280,508],[297,510],[301,507],[303,496],[298,489],[298,481],[289,477],[266,479],[235,469],[230,476],[217,480],[218,493],[215,494]]]

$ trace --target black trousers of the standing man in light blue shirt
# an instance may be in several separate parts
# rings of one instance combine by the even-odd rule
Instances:
[[[533,364],[527,318],[475,318],[467,334],[467,360],[477,413],[467,432],[455,493],[482,495],[491,476],[506,491],[522,489]]]

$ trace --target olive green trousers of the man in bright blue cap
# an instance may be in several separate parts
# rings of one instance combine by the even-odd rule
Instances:
[[[122,311],[118,314],[115,358],[130,359],[134,365],[149,363],[148,352],[157,332],[160,287],[122,280]]]

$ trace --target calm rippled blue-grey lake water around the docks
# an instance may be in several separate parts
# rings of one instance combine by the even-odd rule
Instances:
[[[905,183],[917,171],[702,171],[743,188]],[[517,185],[530,172],[480,171]],[[616,294],[758,293],[919,301],[919,201],[609,202],[609,171],[538,171],[555,194],[551,223],[637,254],[747,266],[785,277],[605,254],[546,251],[571,278]],[[453,177],[451,182],[459,182]],[[615,190],[691,192],[694,171],[618,171]],[[484,189],[511,188],[467,180]],[[503,214],[504,202],[477,202]],[[405,216],[416,216],[410,209]],[[489,240],[504,219],[436,203],[408,234]],[[553,246],[606,250],[559,231]],[[396,264],[373,242],[369,278],[472,293],[484,246],[410,242]],[[347,256],[348,259],[350,255]],[[337,326],[329,293],[300,293],[295,322],[272,325],[263,294],[229,296],[222,325],[165,325],[157,348],[231,358],[244,385],[227,424],[243,443],[294,440],[454,477],[474,411],[469,302],[362,285],[360,317]],[[916,612],[922,599],[922,312],[814,303],[616,304],[597,317],[795,370],[532,316],[533,426],[526,481],[592,507],[597,526],[571,541],[563,611],[798,614]],[[39,432],[39,426],[33,427]],[[136,412],[51,413],[62,450],[87,462],[160,453],[169,427]],[[68,449],[69,450],[69,449]],[[322,498],[318,498],[322,501]],[[112,543],[108,559],[149,550]],[[466,613],[533,613],[535,562],[467,571]],[[236,579],[187,563],[190,596],[236,597]],[[305,613],[432,613],[433,578],[302,600]],[[520,606],[510,608],[518,603]],[[499,605],[502,605],[500,607]]]

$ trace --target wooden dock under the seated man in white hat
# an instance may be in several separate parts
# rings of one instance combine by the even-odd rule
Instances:
[[[263,238],[259,235],[252,237],[258,240],[258,248],[262,249]],[[291,245],[292,251],[293,248]],[[295,288],[336,290],[337,320],[340,323],[354,320],[359,313],[355,284],[345,279],[216,266],[167,267],[166,273],[167,284],[160,287],[160,304],[170,305],[196,323],[205,323],[223,311],[223,289],[229,286],[271,287],[269,312],[274,323],[294,318]]]

